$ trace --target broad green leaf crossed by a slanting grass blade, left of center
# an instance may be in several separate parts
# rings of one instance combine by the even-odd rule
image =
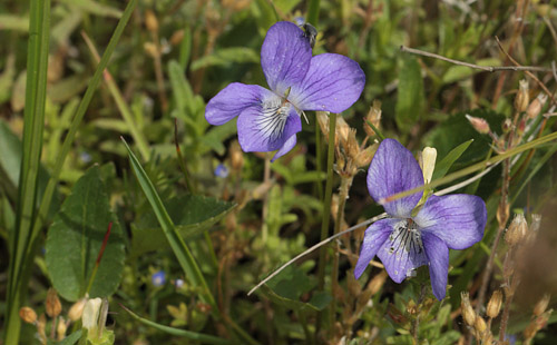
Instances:
[[[203,231],[221,220],[236,205],[204,196],[186,195],[172,198],[165,201],[164,206],[176,225],[178,234],[184,240],[188,240],[203,235]],[[153,211],[140,217],[131,231],[133,256],[168,245]]]

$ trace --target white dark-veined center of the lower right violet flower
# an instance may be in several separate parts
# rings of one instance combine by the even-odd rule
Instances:
[[[420,230],[412,219],[405,219],[397,224],[389,236],[389,240],[391,241],[389,254],[401,256],[404,255],[402,253],[404,250],[409,255],[418,256],[423,252]]]

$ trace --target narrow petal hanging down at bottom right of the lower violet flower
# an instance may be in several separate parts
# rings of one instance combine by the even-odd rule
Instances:
[[[429,276],[431,288],[437,299],[444,298],[447,293],[447,278],[449,275],[449,248],[442,239],[432,235],[423,234],[423,247],[429,259]]]

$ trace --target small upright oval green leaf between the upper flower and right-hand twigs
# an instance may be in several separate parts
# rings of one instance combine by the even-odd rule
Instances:
[[[423,100],[423,80],[418,61],[410,56],[402,59],[399,70],[399,89],[395,105],[395,120],[405,132],[420,119]]]

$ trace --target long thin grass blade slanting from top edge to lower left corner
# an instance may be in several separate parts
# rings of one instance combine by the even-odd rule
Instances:
[[[31,4],[39,3],[37,1],[32,1]],[[42,3],[42,2],[40,2]],[[48,2],[49,3],[49,2]],[[20,292],[23,289],[27,289],[26,282],[22,279],[25,275],[22,275],[22,267],[30,267],[30,263],[33,263],[35,260],[35,250],[33,250],[33,243],[37,238],[37,235],[39,234],[40,229],[42,228],[43,223],[47,219],[47,214],[50,208],[50,203],[52,201],[52,196],[55,193],[56,185],[58,184],[58,179],[60,177],[60,172],[63,166],[63,161],[66,160],[66,157],[68,156],[68,152],[71,148],[71,145],[74,144],[74,139],[76,138],[76,132],[79,127],[79,124],[81,122],[85,111],[87,110],[87,107],[89,106],[92,95],[97,90],[97,87],[100,82],[100,77],[102,76],[102,71],[105,70],[106,66],[108,65],[108,60],[110,59],[110,56],[113,55],[113,51],[124,31],[124,28],[126,27],[133,10],[135,9],[137,4],[137,0],[130,0],[126,7],[126,10],[124,11],[124,14],[121,16],[121,19],[118,21],[118,24],[113,33],[113,37],[110,38],[110,41],[105,50],[105,53],[102,55],[102,59],[100,59],[99,65],[97,66],[97,69],[95,71],[95,75],[92,76],[89,86],[85,92],[84,98],[81,99],[81,102],[79,103],[79,107],[76,111],[76,115],[74,117],[74,120],[71,122],[71,126],[69,128],[68,135],[66,136],[66,139],[63,141],[61,151],[58,154],[58,159],[55,165],[55,169],[52,171],[52,175],[48,181],[47,188],[45,189],[45,194],[42,195],[42,199],[40,203],[40,208],[38,211],[37,217],[35,218],[35,223],[32,226],[32,231],[29,236],[28,245],[25,247],[23,253],[16,253],[16,255],[19,256],[19,262],[21,263],[25,259],[23,264],[16,265],[16,260],[13,258],[10,259],[10,265],[13,263],[13,268],[10,267],[10,274],[9,274],[9,290],[10,290],[10,297],[8,298],[9,304],[7,307],[7,319],[6,319],[6,325],[7,325],[7,333],[6,333],[6,344],[18,344],[18,338],[19,338],[19,297],[25,295],[23,293]],[[33,17],[31,17],[31,21]],[[32,29],[32,27],[31,27]],[[31,31],[32,32],[32,31]],[[48,34],[47,34],[48,36]],[[38,34],[31,34],[30,36],[30,45],[32,39],[38,39]],[[31,51],[31,49],[29,50]],[[28,69],[28,71],[31,71],[31,69]],[[28,85],[35,85],[32,82]],[[36,137],[39,138],[39,137]],[[25,147],[25,152],[27,152],[27,149]],[[26,169],[22,169],[23,171]],[[29,204],[29,205],[35,205],[35,204]],[[17,243],[12,246],[14,247]],[[13,253],[13,250],[11,250]],[[16,269],[17,268],[17,269]],[[9,326],[8,323],[13,322],[13,327]],[[10,341],[8,341],[10,339]]]

